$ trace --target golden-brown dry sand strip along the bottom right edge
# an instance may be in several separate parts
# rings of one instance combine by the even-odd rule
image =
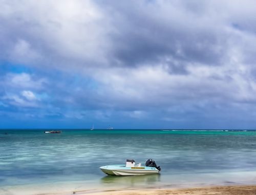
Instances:
[[[61,194],[61,193],[60,193]],[[65,193],[66,195],[67,193]],[[245,186],[215,186],[215,187],[200,187],[200,188],[182,188],[182,189],[118,189],[105,191],[75,191],[75,194],[86,195],[146,195],[146,194],[171,194],[171,195],[255,195],[256,185]],[[38,194],[39,195],[39,194]]]

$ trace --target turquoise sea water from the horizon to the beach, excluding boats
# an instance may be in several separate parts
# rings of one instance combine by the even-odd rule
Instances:
[[[5,134],[7,133],[7,134]],[[98,168],[144,163],[160,175],[111,177]],[[0,131],[0,187],[72,183],[83,187],[254,183],[255,131],[44,130]]]

